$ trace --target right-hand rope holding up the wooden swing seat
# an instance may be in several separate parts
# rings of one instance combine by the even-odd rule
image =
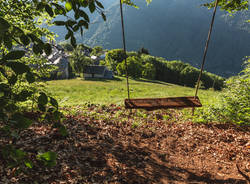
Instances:
[[[195,90],[195,95],[194,95],[195,97],[197,97],[202,72],[204,70],[204,64],[205,64],[205,60],[206,60],[206,56],[207,56],[207,50],[208,50],[208,45],[209,45],[209,41],[210,41],[210,38],[211,38],[211,33],[212,33],[212,30],[213,30],[214,18],[215,18],[218,3],[219,3],[219,0],[216,0],[215,6],[214,6],[213,17],[212,17],[212,21],[211,21],[211,24],[210,24],[210,28],[209,28],[209,32],[208,32],[208,36],[207,36],[207,41],[206,41],[206,46],[205,46],[205,50],[204,50],[204,54],[203,54],[203,59],[202,59],[202,64],[201,64],[201,71],[200,71],[200,74],[199,74],[199,77],[198,77],[197,86],[196,86],[196,90]]]

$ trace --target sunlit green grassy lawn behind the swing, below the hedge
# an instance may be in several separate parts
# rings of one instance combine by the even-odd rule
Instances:
[[[160,81],[129,80],[131,98],[193,96],[194,88],[182,87]],[[55,80],[48,82],[48,91],[57,97],[62,106],[91,102],[95,104],[123,104],[127,98],[126,79],[116,80]],[[199,90],[203,105],[216,103],[219,92]]]

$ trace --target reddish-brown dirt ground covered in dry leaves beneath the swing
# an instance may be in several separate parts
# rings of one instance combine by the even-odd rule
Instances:
[[[152,116],[138,125],[137,115],[128,117],[115,106],[92,110],[66,116],[66,137],[34,123],[17,145],[31,158],[38,150],[55,151],[57,165],[44,169],[37,162],[28,173],[15,175],[0,157],[0,183],[249,183],[249,127],[177,123],[160,111],[146,112]],[[98,116],[102,111],[106,118]]]

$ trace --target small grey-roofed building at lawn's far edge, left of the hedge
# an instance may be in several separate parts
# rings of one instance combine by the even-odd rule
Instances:
[[[100,78],[100,79],[112,79],[113,72],[106,66],[92,65],[87,66],[83,72],[85,79]]]

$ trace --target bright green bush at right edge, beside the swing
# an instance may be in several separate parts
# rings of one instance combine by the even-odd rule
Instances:
[[[219,102],[199,110],[195,119],[250,125],[250,59],[238,76],[226,81]]]

